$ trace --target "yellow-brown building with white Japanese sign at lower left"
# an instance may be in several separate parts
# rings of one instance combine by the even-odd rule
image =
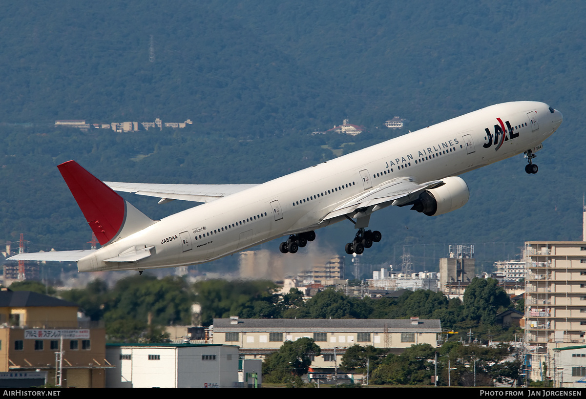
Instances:
[[[52,296],[0,291],[0,372],[45,371],[55,384],[60,371],[63,387],[104,387],[105,330],[79,322],[77,311]]]

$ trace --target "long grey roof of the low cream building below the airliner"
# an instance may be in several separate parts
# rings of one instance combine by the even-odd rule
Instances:
[[[214,319],[214,332],[441,332],[438,319]]]

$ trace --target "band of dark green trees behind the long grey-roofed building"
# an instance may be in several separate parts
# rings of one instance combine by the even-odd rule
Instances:
[[[449,299],[441,292],[407,291],[398,298],[356,298],[325,289],[304,301],[297,289],[277,294],[271,281],[206,280],[188,284],[184,278],[157,279],[148,274],[128,277],[109,288],[103,281],[86,288],[56,292],[39,282],[20,282],[11,289],[28,289],[59,295],[78,303],[92,320],[104,320],[108,339],[134,342],[150,326],[209,326],[214,318],[352,318],[352,319],[440,319],[442,328],[473,339],[512,340],[516,328],[502,328],[495,316],[510,306],[508,296],[496,280],[475,278],[466,289],[465,302]],[[200,306],[194,319],[192,304]]]

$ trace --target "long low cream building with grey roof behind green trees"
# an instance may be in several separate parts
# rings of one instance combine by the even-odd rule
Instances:
[[[321,348],[312,367],[340,364],[353,345],[387,347],[401,353],[419,343],[437,346],[440,320],[395,319],[214,319],[215,344],[238,345],[244,359],[263,359],[285,341],[310,337]]]

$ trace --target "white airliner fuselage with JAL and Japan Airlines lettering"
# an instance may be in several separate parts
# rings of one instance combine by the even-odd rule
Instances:
[[[560,123],[560,112],[551,112],[544,103],[492,105],[165,217],[82,258],[78,268],[145,270],[198,264],[319,229],[345,220],[340,216],[322,221],[370,185],[401,177],[423,183],[461,175],[537,147]],[[502,135],[495,137],[500,125],[506,130],[503,142]],[[103,261],[133,246],[154,248],[138,262]]]

